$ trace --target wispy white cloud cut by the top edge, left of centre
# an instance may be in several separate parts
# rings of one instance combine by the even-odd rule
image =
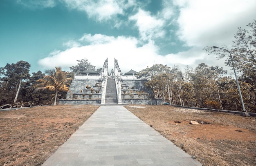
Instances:
[[[117,14],[123,14],[124,9],[135,5],[135,0],[63,0],[67,7],[85,11],[89,18],[98,21],[109,20]]]

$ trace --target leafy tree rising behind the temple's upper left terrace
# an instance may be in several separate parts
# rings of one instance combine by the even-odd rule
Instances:
[[[76,60],[78,64],[76,66],[70,67],[70,70],[72,70],[76,74],[80,74],[82,71],[86,71],[89,69],[93,69],[95,71],[95,66],[93,66],[90,62],[88,62],[88,59],[83,58],[82,60]]]

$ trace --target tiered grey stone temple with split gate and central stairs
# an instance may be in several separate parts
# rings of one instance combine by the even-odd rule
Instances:
[[[152,92],[144,85],[146,78],[137,79],[137,72],[121,73],[115,59],[115,68],[108,73],[108,58],[100,72],[92,69],[75,75],[66,99],[58,104],[161,104],[152,99]]]

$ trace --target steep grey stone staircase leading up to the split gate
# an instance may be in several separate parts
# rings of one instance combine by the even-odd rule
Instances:
[[[118,103],[115,79],[108,79],[107,81],[105,103]]]

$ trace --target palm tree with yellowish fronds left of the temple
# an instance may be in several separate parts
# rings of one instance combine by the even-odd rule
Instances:
[[[55,67],[55,70],[47,72],[49,75],[45,75],[43,79],[39,79],[36,82],[38,87],[36,90],[48,90],[52,91],[55,94],[54,106],[56,106],[57,95],[59,92],[71,92],[69,90],[70,83],[72,78],[67,78],[68,72],[61,71],[61,67]]]

